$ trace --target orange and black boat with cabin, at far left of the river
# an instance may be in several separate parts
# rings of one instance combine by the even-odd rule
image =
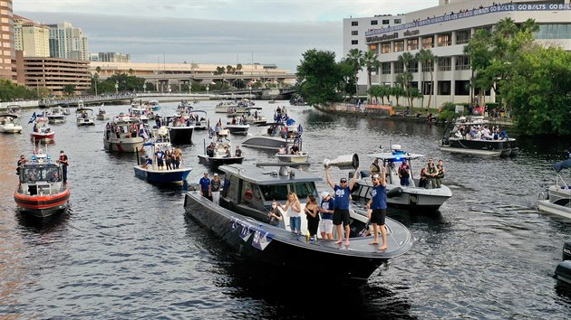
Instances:
[[[20,212],[47,217],[67,208],[70,188],[63,183],[62,165],[37,150],[31,160],[18,167],[19,184],[14,200]]]

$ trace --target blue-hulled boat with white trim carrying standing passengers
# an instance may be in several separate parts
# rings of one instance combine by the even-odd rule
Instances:
[[[135,175],[151,184],[185,184],[192,168],[180,167],[175,169],[173,165],[169,169],[164,162],[163,166],[159,166],[157,161],[157,152],[169,150],[172,155],[174,151],[174,148],[170,145],[169,129],[166,127],[153,129],[151,135],[151,141],[144,145],[150,146],[150,154],[152,154],[150,156],[150,159],[152,159],[151,164],[143,161],[143,163],[135,165]]]

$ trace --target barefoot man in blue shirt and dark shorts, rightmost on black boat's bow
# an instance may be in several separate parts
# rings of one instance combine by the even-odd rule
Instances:
[[[382,168],[381,174],[373,175],[373,189],[371,190],[371,199],[367,202],[367,209],[371,212],[371,223],[373,224],[374,240],[369,244],[379,244],[379,229],[381,229],[382,245],[380,250],[387,249],[387,231],[384,228],[384,221],[387,215],[387,180],[386,168]]]

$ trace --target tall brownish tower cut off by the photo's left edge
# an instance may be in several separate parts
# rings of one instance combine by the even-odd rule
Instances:
[[[16,80],[12,0],[0,0],[0,79]]]

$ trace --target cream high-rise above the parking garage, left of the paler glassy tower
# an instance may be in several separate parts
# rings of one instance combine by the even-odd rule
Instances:
[[[14,14],[14,47],[24,57],[50,56],[50,28]]]

